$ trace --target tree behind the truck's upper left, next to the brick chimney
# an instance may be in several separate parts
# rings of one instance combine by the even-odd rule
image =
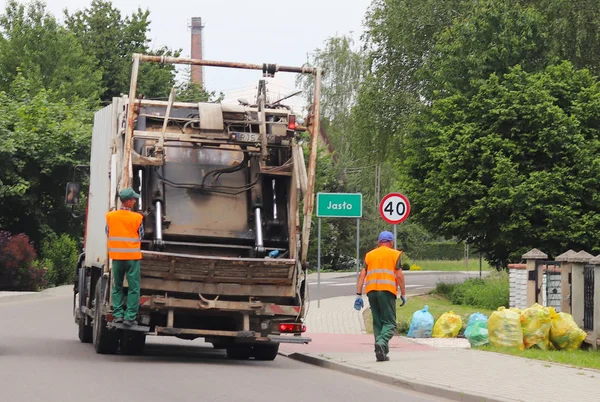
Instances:
[[[65,23],[81,42],[84,51],[94,57],[96,68],[102,72],[104,101],[129,92],[131,57],[133,53],[179,56],[180,50],[167,47],[151,51],[148,29],[150,11],[138,8],[130,16],[110,1],[93,0],[89,8],[69,14]],[[140,67],[138,93],[146,98],[167,98],[175,85],[175,67],[170,64],[143,63]]]

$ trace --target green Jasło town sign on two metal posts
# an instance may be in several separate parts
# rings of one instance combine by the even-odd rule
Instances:
[[[356,274],[359,272],[361,193],[317,193],[317,308],[321,307],[321,218],[356,218]]]

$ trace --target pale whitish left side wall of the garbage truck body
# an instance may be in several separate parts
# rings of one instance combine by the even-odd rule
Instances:
[[[106,220],[110,199],[111,138],[117,130],[116,107],[106,106],[94,115],[90,159],[90,189],[85,238],[85,265],[105,265]]]

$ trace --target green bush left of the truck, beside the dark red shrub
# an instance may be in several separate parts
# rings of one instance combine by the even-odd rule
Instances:
[[[47,267],[46,279],[50,285],[73,283],[77,267],[77,242],[71,236],[52,234],[42,242],[42,257]]]

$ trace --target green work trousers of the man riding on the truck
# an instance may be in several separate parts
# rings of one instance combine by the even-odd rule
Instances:
[[[113,316],[133,321],[140,308],[140,260],[113,260]],[[127,276],[127,310],[123,311],[123,279]]]

